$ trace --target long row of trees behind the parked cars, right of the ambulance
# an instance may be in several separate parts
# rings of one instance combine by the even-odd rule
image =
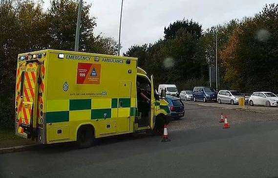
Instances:
[[[192,90],[209,85],[209,67],[214,66],[216,56],[215,34],[219,89],[278,93],[278,4],[265,5],[254,17],[205,31],[198,22],[178,20],[164,28],[163,39],[132,45],[124,55],[138,57],[139,67],[154,75],[156,85],[171,83],[179,90]]]

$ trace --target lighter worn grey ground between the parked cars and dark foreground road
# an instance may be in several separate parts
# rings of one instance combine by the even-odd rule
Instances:
[[[221,113],[223,113],[224,116],[227,116],[231,127],[233,127],[233,125],[238,125],[245,122],[278,120],[278,114],[255,112],[238,108],[228,109],[217,106],[204,106],[202,104],[203,103],[189,104],[188,102],[185,102],[185,116],[181,119],[171,120],[169,126],[170,131],[208,128],[215,126],[222,128],[223,123],[219,123]]]

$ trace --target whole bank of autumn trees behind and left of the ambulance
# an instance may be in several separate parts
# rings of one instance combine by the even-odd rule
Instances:
[[[115,55],[113,38],[94,35],[91,4],[83,4],[80,51]],[[12,128],[17,56],[46,48],[74,50],[77,0],[51,0],[43,9],[33,0],[0,0],[0,127]]]

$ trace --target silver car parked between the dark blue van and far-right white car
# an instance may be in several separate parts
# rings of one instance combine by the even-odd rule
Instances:
[[[243,94],[236,90],[220,90],[217,94],[217,103],[238,104],[239,97],[243,97]]]

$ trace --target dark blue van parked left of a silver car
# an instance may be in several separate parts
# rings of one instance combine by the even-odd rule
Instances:
[[[208,100],[215,101],[217,99],[217,93],[214,88],[211,87],[194,87],[193,100],[202,100],[207,102]]]

